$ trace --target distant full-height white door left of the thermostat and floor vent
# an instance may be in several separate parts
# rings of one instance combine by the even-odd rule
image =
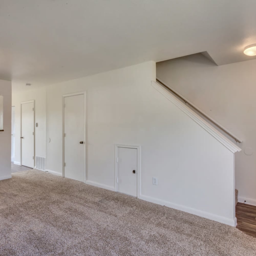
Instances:
[[[21,164],[34,168],[34,102],[21,104]]]

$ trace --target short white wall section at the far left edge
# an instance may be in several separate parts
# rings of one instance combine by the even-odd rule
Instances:
[[[11,178],[11,117],[12,83],[0,80],[0,95],[4,96],[4,131],[0,132],[0,180]]]

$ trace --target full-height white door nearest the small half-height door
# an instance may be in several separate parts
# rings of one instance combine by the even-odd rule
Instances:
[[[64,97],[64,176],[85,181],[84,94]]]

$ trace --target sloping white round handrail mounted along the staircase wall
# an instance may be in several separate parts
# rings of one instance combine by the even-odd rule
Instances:
[[[181,94],[179,94],[177,91],[175,91],[174,89],[170,88],[168,85],[166,85],[163,81],[161,81],[159,78],[156,78],[156,81],[158,83],[160,83],[163,87],[165,87],[166,89],[168,89],[169,91],[171,91],[173,94],[175,94],[176,96],[178,96],[178,98],[182,99],[184,101],[184,103],[186,105],[190,105],[192,108],[194,108],[196,111],[198,111],[201,115],[203,115],[205,118],[207,118],[208,120],[210,120],[213,124],[215,124],[217,127],[219,127],[219,129],[221,129],[223,132],[225,132],[226,134],[228,134],[231,138],[233,138],[236,142],[242,143],[243,141],[238,138],[237,136],[235,136],[234,134],[232,134],[230,131],[228,131],[225,127],[223,127],[221,124],[219,124],[217,121],[215,121],[214,119],[212,119],[209,115],[207,115],[204,111],[200,110],[199,108],[197,108],[193,103],[191,103],[190,101],[188,101],[184,96],[182,96]]]

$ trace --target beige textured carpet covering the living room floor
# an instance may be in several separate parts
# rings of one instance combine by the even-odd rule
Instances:
[[[236,228],[29,170],[0,181],[0,255],[255,255]]]

